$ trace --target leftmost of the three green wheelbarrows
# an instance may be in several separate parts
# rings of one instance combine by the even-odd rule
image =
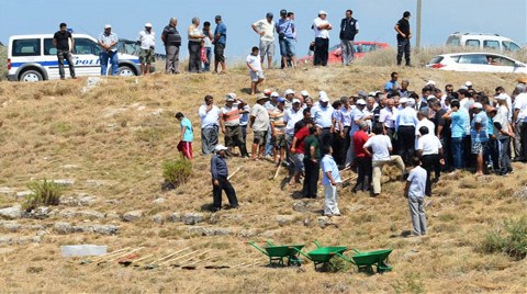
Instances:
[[[266,241],[267,247],[261,248],[255,242],[249,242],[250,246],[255,247],[258,251],[269,257],[269,267],[300,267],[302,260],[299,259],[299,252],[302,252],[304,245],[282,245],[276,246],[270,241]],[[287,263],[284,263],[287,259]]]

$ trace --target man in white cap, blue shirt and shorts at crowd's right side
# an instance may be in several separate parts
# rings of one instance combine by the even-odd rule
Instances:
[[[472,112],[474,118],[470,124],[471,150],[475,155],[475,176],[483,176],[483,147],[489,140],[489,117],[480,102],[472,105]]]

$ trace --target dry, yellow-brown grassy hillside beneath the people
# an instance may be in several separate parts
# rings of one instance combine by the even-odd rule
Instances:
[[[354,66],[270,70],[265,87],[283,92],[328,92],[332,101],[359,90],[381,88],[391,71],[412,89],[426,80],[442,87],[471,80],[478,90],[514,87],[516,76],[441,72],[422,68]],[[228,75],[188,75],[113,79],[82,91],[87,79],[40,83],[0,82],[0,208],[22,203],[31,180],[58,180],[63,203],[32,217],[0,220],[0,289],[8,292],[159,293],[343,293],[429,292],[525,293],[527,263],[504,253],[486,253],[485,239],[518,220],[527,208],[527,168],[514,163],[506,178],[445,176],[426,200],[429,233],[404,238],[411,228],[403,183],[385,177],[383,195],[369,197],[339,190],[343,216],[321,217],[323,200],[299,200],[300,186],[287,184],[285,171],[269,180],[267,161],[232,158],[232,182],[240,208],[211,214],[209,157],[194,140],[193,176],[176,190],[162,191],[161,165],[178,157],[182,111],[199,129],[198,108],[205,94],[223,103],[227,92],[248,98],[244,68]],[[254,104],[255,98],[248,98]],[[251,136],[251,135],[250,135]],[[249,136],[249,137],[250,137]],[[223,142],[223,138],[221,139]],[[344,173],[348,178],[349,171]],[[322,195],[322,193],[319,193]],[[225,201],[225,197],[224,197]],[[14,210],[15,211],[15,210]],[[4,216],[5,217],[5,216]],[[354,267],[319,273],[310,262],[298,268],[264,267],[266,257],[247,245],[341,245],[361,251],[393,248],[394,270],[382,275]],[[166,265],[153,270],[116,262],[80,264],[60,257],[63,245],[105,245],[110,251],[139,248],[142,264],[186,248],[210,250],[194,271]],[[130,250],[130,249],[128,249]],[[348,256],[351,252],[348,252]],[[183,262],[179,260],[179,262]],[[195,261],[188,261],[189,263]],[[206,270],[208,263],[229,269]]]

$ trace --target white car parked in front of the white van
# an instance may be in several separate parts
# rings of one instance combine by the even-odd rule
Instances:
[[[527,74],[525,64],[492,53],[441,54],[434,57],[426,67],[452,71]]]

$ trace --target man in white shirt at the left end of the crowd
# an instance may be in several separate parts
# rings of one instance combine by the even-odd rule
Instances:
[[[210,155],[217,144],[220,109],[214,105],[212,95],[205,95],[204,101],[198,112],[201,118],[201,150],[203,155]]]

